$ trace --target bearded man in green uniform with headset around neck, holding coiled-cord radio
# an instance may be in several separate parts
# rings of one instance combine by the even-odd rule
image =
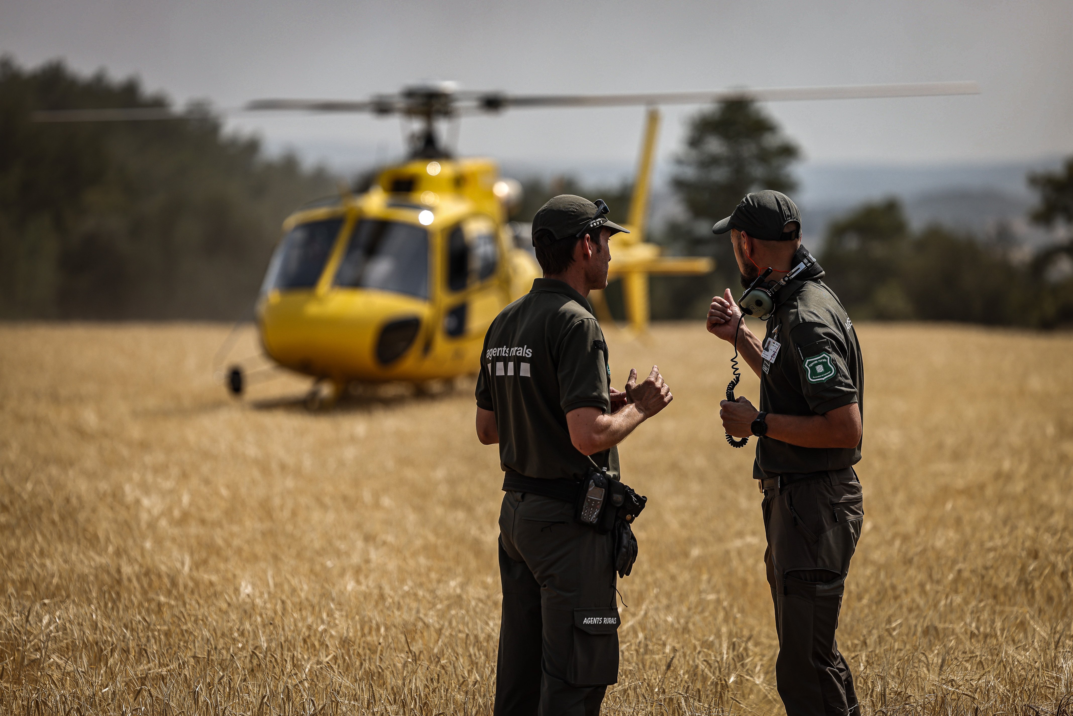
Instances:
[[[739,397],[723,400],[719,414],[727,435],[758,436],[753,478],[764,494],[779,696],[791,716],[855,714],[853,675],[835,629],[864,520],[853,470],[863,433],[861,346],[823,269],[800,245],[800,215],[790,198],[747,195],[712,228],[726,232],[743,284],[764,289],[769,299],[750,292],[743,301],[753,313],[770,310],[763,342],[740,321],[730,289],[712,298],[707,327],[735,342],[760,377],[759,411]]]

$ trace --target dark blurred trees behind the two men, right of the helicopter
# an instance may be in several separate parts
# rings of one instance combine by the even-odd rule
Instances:
[[[726,236],[711,225],[729,216],[750,191],[793,195],[792,166],[800,150],[755,103],[731,101],[695,115],[677,160],[673,187],[686,216],[658,232],[672,255],[707,255],[707,276],[652,277],[652,318],[699,319],[712,295],[740,276]],[[1073,324],[1073,158],[1054,173],[1027,177],[1039,203],[1030,219],[1060,238],[1026,254],[1001,237],[981,237],[943,225],[914,231],[897,199],[863,204],[833,221],[817,257],[825,280],[850,315],[861,320],[962,321],[990,325],[1056,327]],[[531,182],[527,208],[535,211],[553,188],[605,196],[615,216],[629,211],[630,187],[586,188],[559,180]],[[804,228],[808,237],[809,227]],[[620,290],[608,288],[613,312],[622,316]]]

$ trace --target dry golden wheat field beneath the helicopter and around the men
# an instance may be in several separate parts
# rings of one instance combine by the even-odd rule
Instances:
[[[472,381],[236,401],[227,330],[0,325],[0,713],[490,713],[501,473]],[[864,712],[1073,713],[1073,336],[859,335],[839,641]],[[730,348],[694,323],[608,340],[617,384],[658,363],[675,401],[621,447],[650,501],[604,713],[780,713]]]

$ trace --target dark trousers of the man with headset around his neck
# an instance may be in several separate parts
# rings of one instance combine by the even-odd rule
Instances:
[[[844,479],[844,476],[843,476]],[[850,558],[861,537],[861,483],[837,474],[765,491],[775,676],[789,716],[856,714],[853,674],[835,641]]]

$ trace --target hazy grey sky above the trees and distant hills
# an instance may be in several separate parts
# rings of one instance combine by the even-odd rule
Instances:
[[[420,78],[512,92],[629,92],[976,79],[979,97],[768,104],[811,162],[942,163],[1073,152],[1073,2],[282,2],[0,0],[0,53],[137,74],[177,101],[352,98]],[[664,112],[677,149],[695,107]],[[643,109],[518,109],[459,148],[624,166]],[[237,118],[339,161],[400,151],[399,122]],[[665,164],[664,164],[665,166]]]

